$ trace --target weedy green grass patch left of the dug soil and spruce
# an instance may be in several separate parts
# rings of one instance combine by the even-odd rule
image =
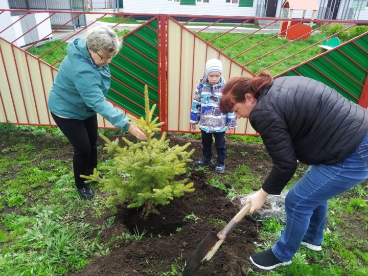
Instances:
[[[0,157],[0,211],[7,209],[0,213],[0,275],[62,275],[108,254],[111,242],[102,244],[93,233],[111,227],[114,216],[91,226],[84,210],[92,210],[91,216],[113,210],[101,195],[94,202],[80,200],[71,162],[44,158],[50,149],[35,151],[27,137],[49,139],[57,128],[0,124],[0,133],[20,137],[12,147],[3,144],[6,154]],[[58,143],[55,155],[65,147],[64,140]]]

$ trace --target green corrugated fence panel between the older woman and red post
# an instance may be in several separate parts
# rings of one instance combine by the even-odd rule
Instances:
[[[159,100],[157,26],[157,19],[154,19],[128,33],[120,55],[110,64],[112,78],[107,98],[137,117],[145,116],[145,84],[148,85],[150,107]],[[158,114],[156,108],[154,115]]]

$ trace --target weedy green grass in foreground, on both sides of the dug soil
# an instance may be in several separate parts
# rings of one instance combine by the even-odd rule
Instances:
[[[106,204],[108,195],[102,191],[93,200],[79,198],[74,187],[72,149],[57,128],[1,124],[0,133],[1,275],[63,275],[83,269],[93,257],[109,256],[111,246],[118,241],[138,240],[124,232],[103,238],[106,229],[114,227],[116,206]],[[198,139],[191,134],[181,137]],[[229,138],[240,145],[261,143],[259,137]],[[234,154],[231,148],[229,155]],[[106,153],[101,147],[98,150],[99,165],[108,164]],[[244,150],[241,155],[269,162],[264,151],[249,156]],[[288,187],[305,170],[305,166],[298,167]],[[206,173],[210,185],[224,190],[228,198],[259,189],[264,180],[259,169],[245,164],[225,175]],[[323,251],[301,248],[292,265],[269,272],[249,267],[249,275],[367,275],[367,198],[365,182],[329,201]],[[260,236],[255,245],[256,250],[263,250],[278,239],[283,223],[274,217],[259,219],[258,223]],[[181,275],[184,261],[178,256],[179,265],[172,271],[152,275]]]

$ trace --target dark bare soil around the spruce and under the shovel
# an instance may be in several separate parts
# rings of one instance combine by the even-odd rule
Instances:
[[[134,141],[131,135],[113,135],[109,136],[109,139],[119,138],[121,141],[122,136]],[[193,160],[202,157],[200,139],[188,139],[175,134],[168,135],[168,139],[170,146],[191,142],[189,150],[195,149]],[[110,158],[102,150],[104,145],[102,139],[98,140],[98,145],[99,162]],[[34,136],[25,132],[19,132],[16,135],[2,135],[0,141],[2,154],[17,160],[22,147],[32,147],[35,153],[43,152],[39,156],[27,159],[32,164],[42,164],[45,160],[55,158],[70,164],[72,169],[73,148],[66,141],[54,136]],[[234,181],[233,172],[241,165],[247,165],[253,171],[253,176],[256,172],[257,179],[254,181],[259,183],[265,179],[272,168],[271,160],[263,145],[244,144],[226,139],[226,147],[228,149],[226,172],[224,175],[216,175],[216,177],[228,188],[235,185],[232,182]],[[9,150],[9,148],[12,149]],[[47,151],[44,151],[45,149]],[[213,148],[213,152],[216,155],[215,148]],[[81,271],[70,272],[68,275],[174,275],[171,273],[172,265],[180,274],[185,261],[188,260],[203,238],[210,231],[216,233],[220,231],[223,226],[220,226],[218,222],[226,223],[238,212],[236,206],[225,197],[222,190],[209,185],[210,179],[215,176],[214,168],[208,171],[197,171],[193,164],[188,164],[188,166],[190,167],[188,174],[183,177],[188,177],[190,181],[194,182],[194,192],[175,198],[166,206],[158,206],[160,214],[151,214],[147,220],[141,218],[141,209],[127,209],[126,205],[120,205],[117,215],[115,215],[114,224],[105,228],[104,232],[101,233],[102,243],[110,241],[114,236],[120,236],[122,232],[131,235],[146,232],[142,240],[129,243],[126,243],[125,240],[112,242],[108,256],[94,258]],[[3,171],[1,176],[6,181],[12,179],[16,173],[16,170]],[[241,177],[242,173],[239,172],[236,178],[241,179]],[[244,182],[244,184],[246,183]],[[96,193],[103,194],[104,192],[97,190]],[[351,192],[344,194],[344,197],[347,198],[353,196]],[[32,203],[31,199],[27,202],[27,204]],[[0,212],[4,214],[18,210],[20,211],[20,208],[8,208],[5,205]],[[96,218],[91,212],[93,211],[85,211],[85,222],[92,226],[103,223],[111,216],[111,214],[106,213]],[[188,215],[191,215],[191,218]],[[360,239],[366,237],[363,215],[349,216],[347,214],[343,219],[347,225],[351,225],[349,229],[343,228],[341,230],[344,237],[354,236]],[[245,217],[235,231],[227,237],[211,261],[202,265],[194,276],[247,275],[249,268],[259,271],[249,261],[249,256],[255,252],[254,242],[258,238],[257,226],[259,225],[250,216]],[[96,235],[97,233],[93,233],[93,236]],[[348,246],[347,248],[349,248]],[[356,247],[365,251],[365,248],[361,246],[356,245]],[[338,259],[335,261],[338,262]]]

